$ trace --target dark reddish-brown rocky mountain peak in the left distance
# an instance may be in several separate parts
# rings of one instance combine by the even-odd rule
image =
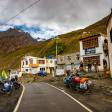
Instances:
[[[17,29],[0,32],[0,52],[11,52],[36,43],[28,33]]]

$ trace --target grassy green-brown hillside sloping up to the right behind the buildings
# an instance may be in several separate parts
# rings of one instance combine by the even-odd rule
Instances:
[[[80,38],[89,36],[89,35],[93,35],[93,34],[98,34],[98,33],[106,34],[106,24],[107,24],[108,18],[109,18],[109,16],[103,18],[102,20],[100,20],[84,29],[80,29],[77,31],[72,31],[67,34],[59,35],[58,36],[59,39],[53,38],[53,39],[49,39],[49,40],[46,40],[43,42],[39,42],[38,44],[32,44],[33,40],[31,38],[29,38],[27,40],[27,42],[30,45],[27,44],[27,46],[25,46],[26,41],[24,40],[25,45],[20,44],[20,46],[19,46],[19,44],[17,44],[17,46],[19,46],[20,48],[16,49],[16,50],[14,50],[15,47],[13,46],[14,47],[14,49],[12,50],[13,52],[10,52],[10,50],[7,50],[8,49],[8,46],[7,46],[7,49],[6,48],[5,49],[8,52],[7,53],[2,52],[0,55],[0,69],[3,69],[3,68],[11,69],[11,68],[20,67],[20,60],[24,55],[33,55],[33,56],[39,56],[39,57],[44,57],[44,56],[49,56],[49,55],[55,56],[56,41],[58,43],[58,54],[68,54],[68,53],[77,52],[77,51],[79,51],[79,39]],[[88,33],[83,33],[83,32],[88,32]],[[11,34],[13,34],[13,33],[11,33]],[[15,37],[16,36],[14,36],[13,38],[15,38]],[[17,37],[19,37],[19,36],[17,36]],[[25,37],[23,36],[22,38],[26,39]],[[3,37],[0,37],[0,38],[3,38]],[[8,40],[6,41],[6,43],[4,42],[3,45],[8,44],[8,42],[10,43],[11,38],[12,37],[10,36],[10,34],[8,34]],[[32,41],[30,41],[31,43],[29,42],[30,39],[32,40]],[[25,47],[23,47],[23,46],[21,47],[21,45],[23,45]],[[0,47],[0,49],[1,49],[1,47]]]

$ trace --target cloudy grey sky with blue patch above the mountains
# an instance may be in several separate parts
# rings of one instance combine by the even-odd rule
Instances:
[[[0,0],[0,23],[37,0]],[[34,37],[49,38],[84,28],[110,13],[112,0],[40,0],[0,30],[16,26]]]

